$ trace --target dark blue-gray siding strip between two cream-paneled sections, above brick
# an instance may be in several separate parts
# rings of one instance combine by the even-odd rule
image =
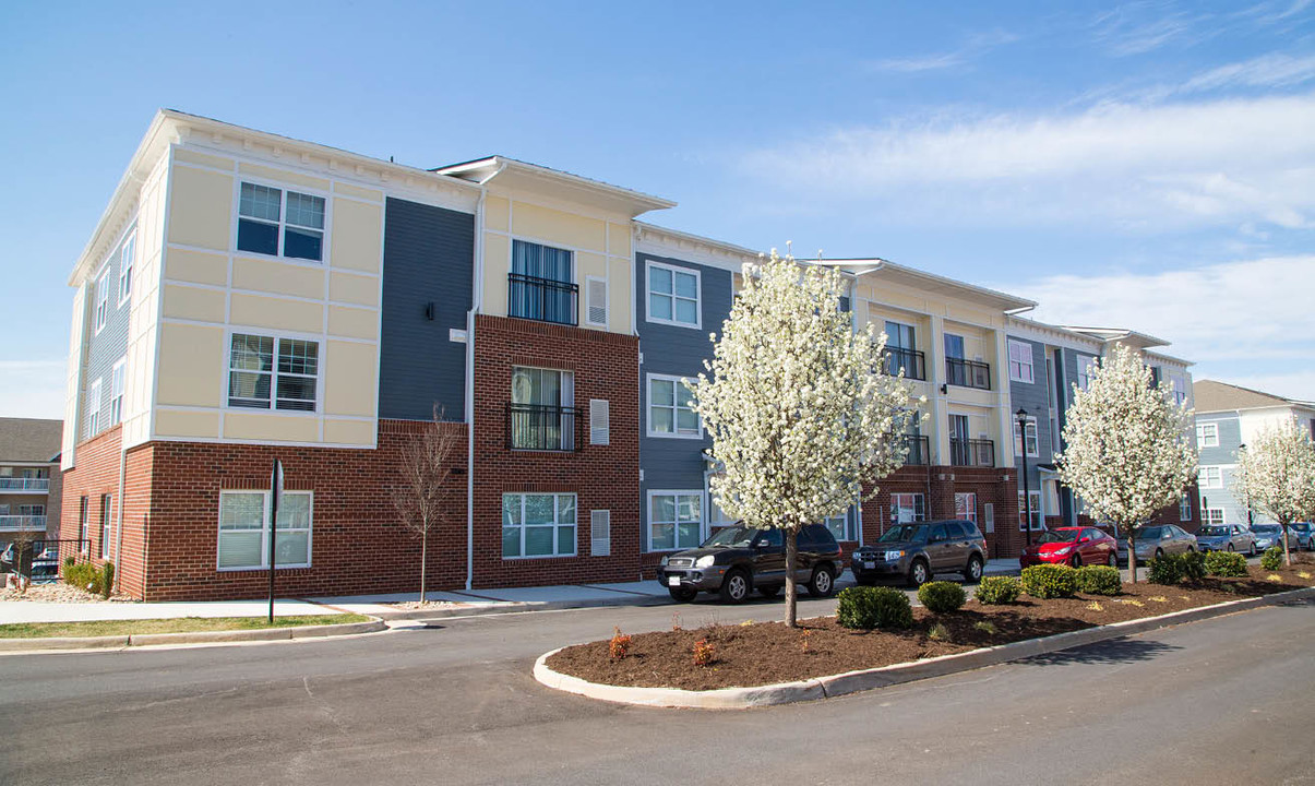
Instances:
[[[466,330],[475,264],[475,217],[389,198],[384,223],[384,300],[379,417],[427,421],[466,415]],[[434,304],[434,319],[425,314]]]

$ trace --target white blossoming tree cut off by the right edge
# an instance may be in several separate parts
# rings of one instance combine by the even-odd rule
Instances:
[[[1265,426],[1237,451],[1233,489],[1283,527],[1283,563],[1293,564],[1287,524],[1315,518],[1315,444],[1287,419]]]

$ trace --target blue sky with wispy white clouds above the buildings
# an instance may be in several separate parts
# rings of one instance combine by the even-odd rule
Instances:
[[[159,106],[568,170],[1315,398],[1311,0],[7,4],[0,71],[0,415],[62,415],[66,280]]]

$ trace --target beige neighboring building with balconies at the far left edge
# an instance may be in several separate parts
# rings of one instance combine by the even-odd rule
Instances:
[[[0,547],[18,532],[59,534],[63,421],[0,418]]]

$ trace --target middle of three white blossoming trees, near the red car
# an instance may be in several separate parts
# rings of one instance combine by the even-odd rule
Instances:
[[[1128,542],[1128,572],[1137,580],[1136,530],[1172,505],[1197,474],[1191,409],[1151,384],[1151,369],[1118,344],[1091,369],[1064,425],[1068,447],[1056,456],[1060,480]]]

